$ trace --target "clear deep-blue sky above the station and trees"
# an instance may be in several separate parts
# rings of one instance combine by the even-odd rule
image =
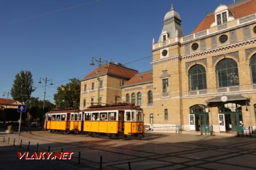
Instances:
[[[88,2],[94,3],[82,5]],[[81,79],[96,67],[89,65],[92,56],[120,63],[150,56],[152,38],[158,40],[171,2],[189,35],[207,12],[233,0],[1,0],[0,97],[11,90],[21,70],[31,71],[38,87],[32,96],[42,100],[39,78],[52,79],[46,99],[53,102],[57,86]],[[76,5],[81,6],[69,8]],[[150,61],[128,66],[151,70]]]

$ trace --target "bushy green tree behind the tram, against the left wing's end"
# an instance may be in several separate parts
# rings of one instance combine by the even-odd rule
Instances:
[[[71,82],[57,88],[54,95],[56,108],[79,108],[80,104],[80,80],[73,78]]]

